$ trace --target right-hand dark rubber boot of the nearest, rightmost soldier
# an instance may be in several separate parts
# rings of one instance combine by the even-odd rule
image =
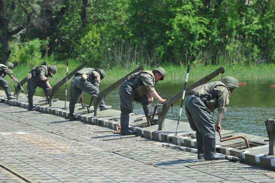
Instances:
[[[217,160],[224,159],[225,155],[216,153],[216,140],[215,138],[202,137],[204,147],[204,160]]]

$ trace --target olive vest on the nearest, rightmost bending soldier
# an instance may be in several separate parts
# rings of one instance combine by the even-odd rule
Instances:
[[[195,94],[200,98],[200,100],[209,108],[210,111],[216,109],[217,106],[217,96],[214,92],[216,86],[224,86],[230,95],[230,89],[221,81],[213,81],[200,86],[195,87],[190,91],[190,93]]]

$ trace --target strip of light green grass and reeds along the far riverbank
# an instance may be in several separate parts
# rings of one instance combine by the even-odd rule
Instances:
[[[42,62],[42,61],[40,61]],[[55,61],[47,61],[47,64],[55,64],[57,66],[57,74],[53,75],[51,78],[51,85],[58,82],[60,79],[65,77],[66,75],[66,63],[65,62],[55,62]],[[72,71],[76,68],[80,62],[71,60],[69,62],[69,71]],[[35,65],[33,65],[35,66]],[[33,67],[32,65],[18,65],[13,69],[14,74],[18,78],[18,80],[23,79],[28,71]],[[135,69],[138,64],[132,64],[129,69],[125,69],[119,66],[113,68],[103,68],[106,72],[106,76],[104,78],[105,82],[114,82],[117,79],[121,78],[131,70]],[[178,82],[180,80],[185,79],[186,75],[186,66],[179,65],[161,65],[167,72],[165,82]],[[245,79],[274,79],[275,82],[275,64],[258,64],[258,65],[192,65],[190,68],[189,79],[190,80],[198,80],[205,75],[211,73],[215,69],[220,66],[224,66],[225,72],[223,76],[234,76],[240,81]],[[151,70],[154,67],[150,67],[148,65],[144,65],[145,70]],[[11,79],[8,76],[5,76],[5,79],[8,80],[9,83],[13,84]]]

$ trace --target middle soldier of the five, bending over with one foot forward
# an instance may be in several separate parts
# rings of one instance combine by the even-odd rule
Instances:
[[[74,106],[77,103],[77,98],[83,100],[83,91],[89,94],[99,93],[99,84],[105,76],[105,72],[100,68],[83,68],[75,73],[70,83],[70,100],[69,100],[69,120],[75,120],[73,116]],[[101,100],[99,105],[100,110],[110,109],[111,105],[106,105],[104,100]]]

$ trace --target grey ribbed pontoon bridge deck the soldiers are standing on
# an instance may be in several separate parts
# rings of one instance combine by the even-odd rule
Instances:
[[[194,133],[187,123],[181,123],[174,136],[176,121],[165,119],[165,129],[157,125],[136,127],[146,123],[144,115],[131,114],[130,125],[138,135],[120,138],[111,129],[119,125],[118,110],[104,110],[98,116],[76,114],[81,121],[63,118],[64,101],[37,106],[27,111],[25,96],[20,101],[7,101],[0,91],[1,128],[0,181],[5,182],[274,182],[273,156],[268,153],[264,137],[242,133],[259,146],[237,149],[242,139],[219,142],[221,153],[238,156],[240,162],[227,159],[203,161],[196,153],[163,147],[169,142],[196,147]],[[41,97],[34,97],[34,103]],[[8,103],[8,104],[7,104]],[[20,107],[15,107],[16,105]],[[78,106],[80,107],[80,106]],[[84,112],[76,108],[76,113]],[[91,125],[94,124],[94,125]],[[239,135],[223,130],[222,136]],[[145,138],[143,138],[144,136]],[[220,145],[220,146],[219,146]],[[243,163],[244,162],[244,163]],[[264,167],[264,168],[261,168]],[[7,170],[9,169],[9,170]],[[18,178],[20,174],[26,179]]]

